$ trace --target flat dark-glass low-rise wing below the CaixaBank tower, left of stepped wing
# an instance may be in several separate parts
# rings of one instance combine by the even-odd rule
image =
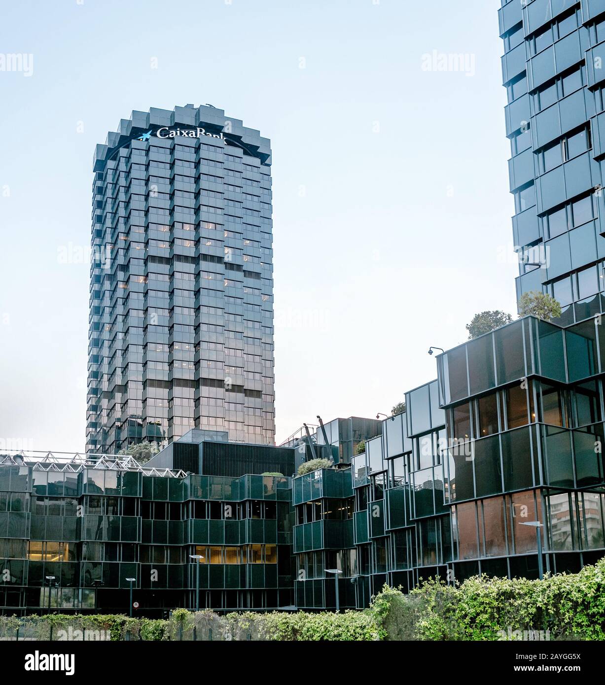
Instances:
[[[3,462],[1,613],[293,604],[289,477]]]

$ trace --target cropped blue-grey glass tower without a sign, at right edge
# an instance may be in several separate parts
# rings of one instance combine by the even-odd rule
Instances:
[[[568,325],[604,310],[605,0],[502,0],[499,31],[517,297],[549,292]]]

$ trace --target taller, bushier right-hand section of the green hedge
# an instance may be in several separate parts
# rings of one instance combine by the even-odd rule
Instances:
[[[430,580],[384,587],[372,610],[389,640],[605,640],[605,558],[544,580]]]

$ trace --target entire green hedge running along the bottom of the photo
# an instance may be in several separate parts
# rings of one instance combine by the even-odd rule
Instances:
[[[177,609],[169,621],[103,614],[0,616],[0,638],[60,639],[109,631],[112,640],[605,640],[605,558],[580,573],[507,580],[429,580],[404,595],[384,586],[365,611],[233,612]],[[537,633],[536,633],[537,632]]]

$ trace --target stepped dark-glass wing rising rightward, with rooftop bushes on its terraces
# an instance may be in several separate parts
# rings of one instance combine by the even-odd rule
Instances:
[[[293,479],[297,606],[334,608],[326,569],[349,608],[385,582],[536,578],[535,523],[544,571],[604,556],[602,360],[597,320],[532,316],[439,356],[350,469]]]

